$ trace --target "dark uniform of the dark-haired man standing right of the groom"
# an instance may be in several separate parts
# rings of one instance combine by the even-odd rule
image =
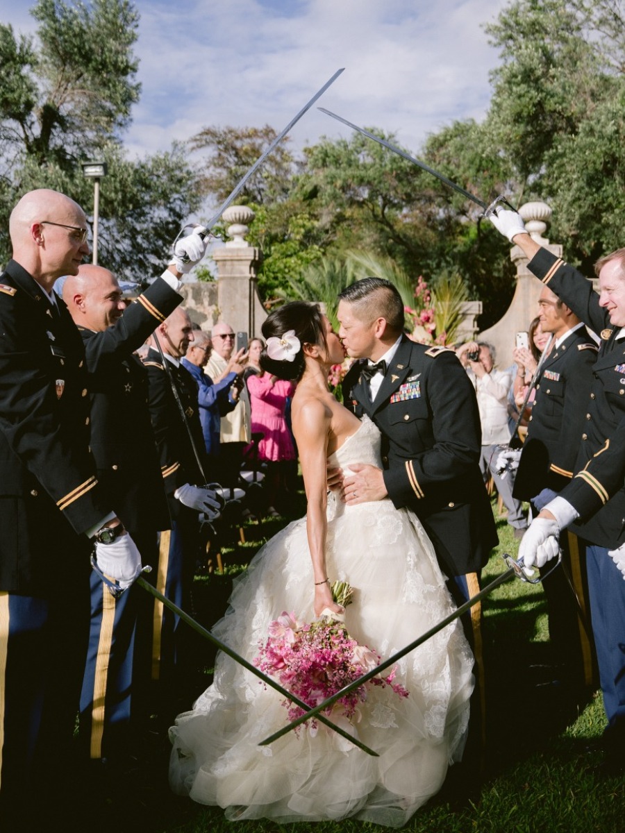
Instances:
[[[557,493],[571,482],[587,422],[596,359],[597,345],[585,327],[578,327],[553,347],[543,362],[514,482],[515,497],[532,501],[544,489]],[[532,504],[534,515],[546,502],[540,501],[537,507]],[[542,587],[547,597],[553,662],[562,666],[560,673],[573,685],[592,686],[597,681],[597,660],[590,628],[586,546],[567,530],[562,532],[560,546],[562,568],[551,571],[547,565],[541,571],[546,576]]]

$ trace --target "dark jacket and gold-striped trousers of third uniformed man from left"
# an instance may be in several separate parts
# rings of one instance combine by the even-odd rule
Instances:
[[[174,497],[178,486],[203,485],[208,457],[204,450],[198,414],[198,386],[182,364],[168,362],[169,374],[158,352],[150,350],[144,358],[148,370],[149,407],[160,456],[161,472],[172,517],[171,531],[160,533],[158,565],[151,576],[159,591],[183,609],[189,609],[193,573],[198,557],[198,512],[183,506]],[[172,382],[185,412],[185,426]],[[188,431],[193,436],[189,438]],[[188,708],[201,693],[195,675],[192,631],[159,601],[153,601],[152,679],[157,683],[158,712],[164,721],[172,720],[181,707]],[[197,659],[197,658],[196,658]]]

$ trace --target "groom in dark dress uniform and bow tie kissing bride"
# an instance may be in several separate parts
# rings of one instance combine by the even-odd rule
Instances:
[[[460,605],[479,591],[479,573],[498,542],[478,466],[482,432],[475,391],[455,352],[403,334],[403,301],[392,283],[367,277],[339,299],[339,336],[348,354],[361,360],[343,382],[345,404],[357,416],[368,414],[382,432],[384,466],[350,466],[357,473],[343,481],[344,499],[360,503],[388,495],[394,506],[412,509]],[[480,622],[478,603],[464,621],[478,681],[473,739],[484,731]]]

